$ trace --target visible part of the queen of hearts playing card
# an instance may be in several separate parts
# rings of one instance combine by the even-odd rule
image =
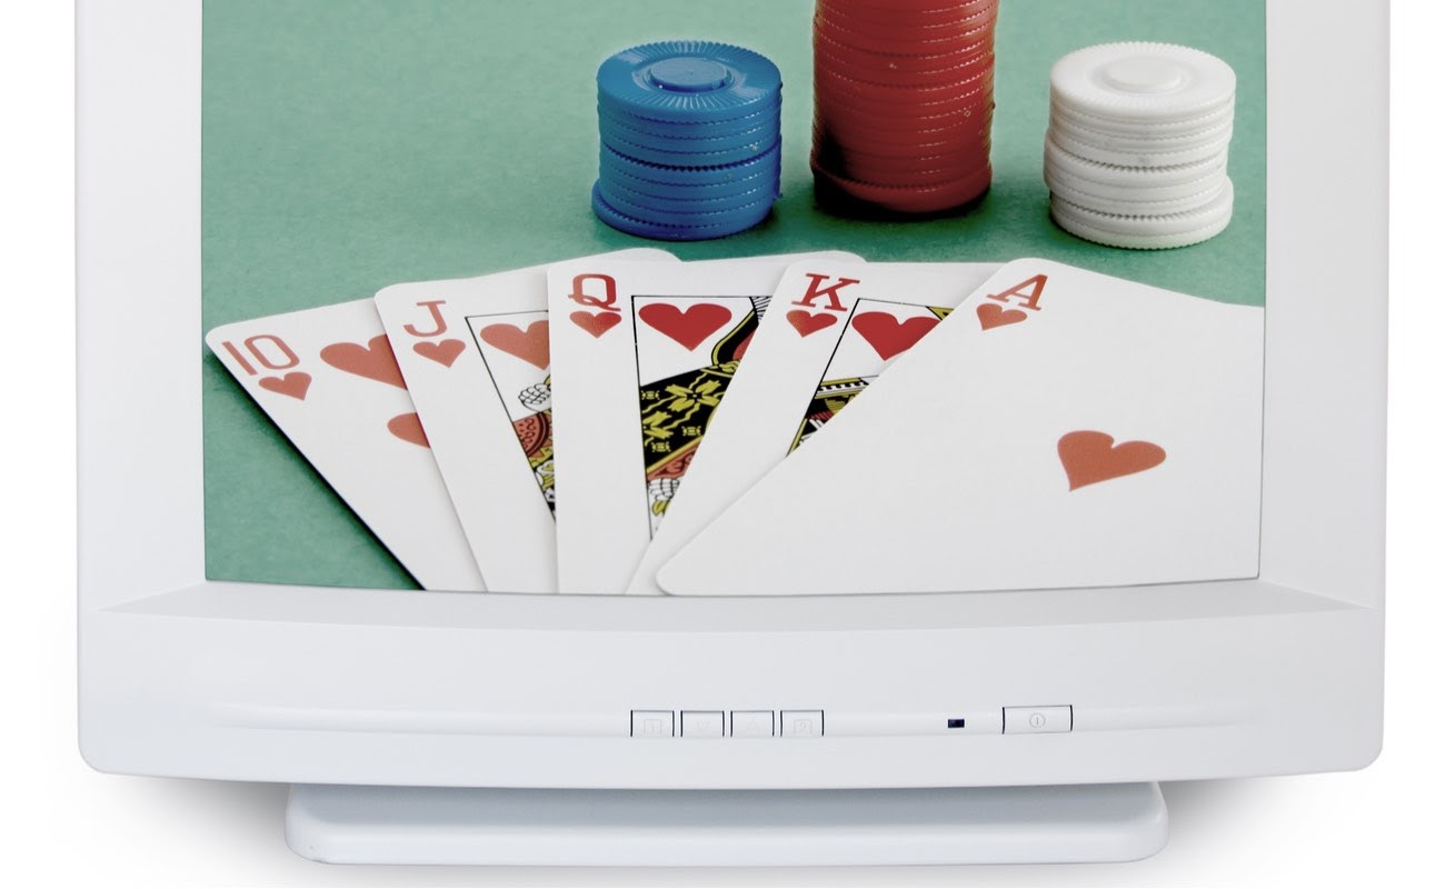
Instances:
[[[795,259],[548,272],[564,593],[624,591]]]

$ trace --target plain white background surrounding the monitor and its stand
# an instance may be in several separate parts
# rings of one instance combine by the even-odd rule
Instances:
[[[117,0],[123,1],[123,0]],[[107,886],[998,885],[1361,886],[1439,882],[1445,588],[1433,561],[1445,441],[1441,4],[1394,4],[1394,231],[1386,742],[1364,772],[1166,786],[1170,846],[1130,866],[899,870],[438,870],[312,864],[285,791],[117,778],[75,744],[72,87],[65,0],[0,6],[0,882]],[[1345,59],[1340,59],[1344,62]],[[1341,110],[1340,126],[1350,126]],[[1322,189],[1350,188],[1350,171]],[[1342,220],[1341,224],[1348,224]],[[1373,295],[1361,295],[1368,298]],[[137,385],[143,385],[137,380]],[[1348,419],[1348,418],[1344,418]]]

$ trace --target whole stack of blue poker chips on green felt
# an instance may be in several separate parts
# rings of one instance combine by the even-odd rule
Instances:
[[[782,88],[777,65],[725,43],[646,43],[603,62],[597,217],[670,241],[762,223],[779,194]]]

